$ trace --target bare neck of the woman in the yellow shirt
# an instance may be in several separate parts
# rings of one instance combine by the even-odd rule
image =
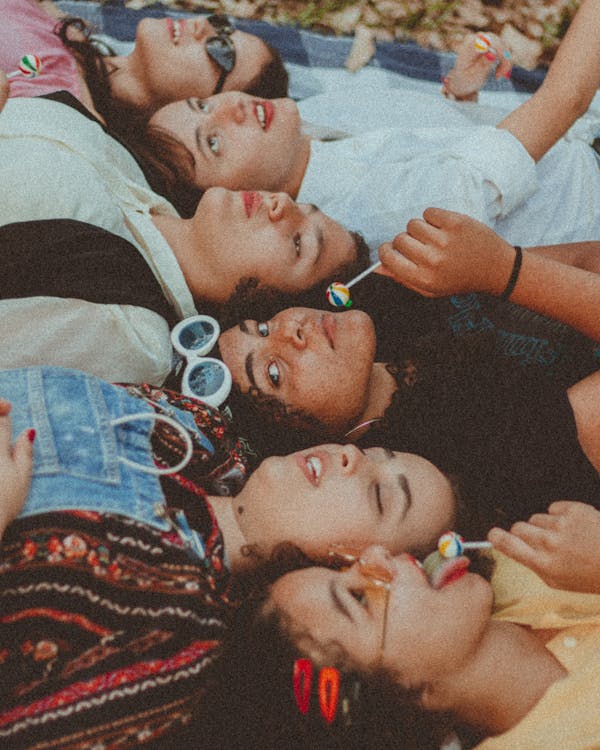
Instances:
[[[474,658],[442,678],[430,708],[450,710],[491,735],[516,726],[566,670],[526,628],[491,621]],[[438,704],[437,706],[434,704]]]

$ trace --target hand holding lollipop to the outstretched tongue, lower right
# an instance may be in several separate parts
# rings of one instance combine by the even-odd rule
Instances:
[[[561,500],[488,539],[552,588],[600,594],[600,511],[591,505]]]

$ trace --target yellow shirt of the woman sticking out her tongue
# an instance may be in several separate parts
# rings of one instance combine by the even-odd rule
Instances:
[[[546,644],[569,674],[519,724],[478,750],[600,750],[600,596],[558,591],[502,555],[494,619],[556,633]]]

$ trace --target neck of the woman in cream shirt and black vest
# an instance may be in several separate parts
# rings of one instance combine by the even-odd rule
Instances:
[[[194,219],[152,214],[152,223],[171,248],[194,299],[223,301],[219,268],[210,268],[202,256],[201,227]]]

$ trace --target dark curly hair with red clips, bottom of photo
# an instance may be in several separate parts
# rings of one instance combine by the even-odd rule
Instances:
[[[439,750],[451,728],[449,716],[424,712],[420,691],[400,686],[382,670],[358,670],[338,643],[316,644],[269,604],[268,593],[249,597],[235,613],[211,687],[189,726],[190,741],[202,736],[206,747],[228,750]],[[340,708],[331,724],[316,708],[315,690],[306,715],[295,703],[293,665],[306,656],[309,643],[341,672]],[[185,738],[180,746],[187,747]]]

